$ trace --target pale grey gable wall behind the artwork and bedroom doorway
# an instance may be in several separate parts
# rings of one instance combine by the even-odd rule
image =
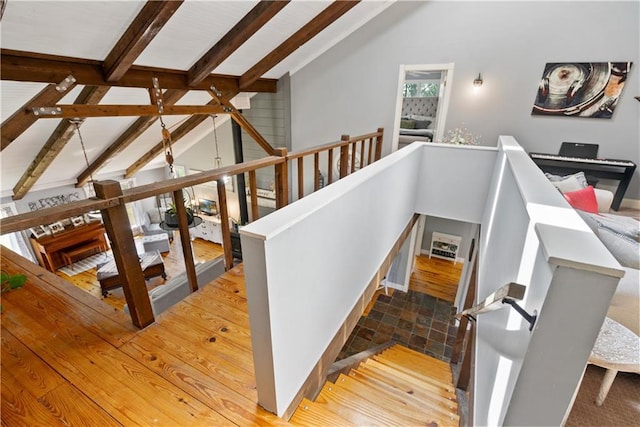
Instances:
[[[453,62],[447,128],[464,123],[487,145],[514,135],[535,152],[598,143],[602,157],[640,164],[638,28],[639,2],[396,2],[291,76],[292,149],[380,126],[392,132],[400,64]],[[634,62],[613,119],[531,115],[545,63],[610,60]],[[627,198],[640,199],[639,175]]]

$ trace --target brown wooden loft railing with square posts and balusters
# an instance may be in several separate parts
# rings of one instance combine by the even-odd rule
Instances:
[[[180,231],[180,239],[182,242],[187,279],[192,291],[197,290],[197,280],[193,253],[191,252],[189,225],[187,221],[187,212],[184,206],[183,189],[193,187],[195,185],[204,184],[215,181],[218,191],[218,209],[221,220],[222,241],[225,257],[225,267],[227,269],[233,267],[233,255],[231,252],[231,233],[229,227],[229,214],[227,203],[227,192],[225,188],[225,179],[228,177],[245,174],[249,176],[249,191],[251,194],[251,206],[253,219],[258,218],[257,203],[257,180],[256,171],[262,168],[273,167],[275,176],[275,193],[276,193],[276,209],[280,209],[289,202],[289,184],[288,184],[288,164],[289,162],[298,162],[298,187],[303,188],[303,169],[300,166],[305,156],[313,155],[315,160],[314,174],[316,181],[314,189],[318,190],[317,175],[319,172],[319,157],[323,152],[327,152],[329,161],[329,180],[328,184],[333,182],[332,167],[333,151],[340,150],[340,174],[343,178],[349,173],[362,168],[366,165],[379,160],[382,153],[382,136],[383,129],[377,132],[361,135],[357,137],[343,136],[339,142],[323,145],[314,149],[300,151],[293,154],[287,154],[286,149],[274,149],[273,156],[264,157],[262,159],[248,161],[236,165],[225,166],[219,169],[213,169],[205,172],[196,173],[180,178],[168,179],[152,184],[141,185],[138,187],[122,190],[117,181],[96,181],[94,183],[96,189],[96,198],[72,202],[65,205],[55,206],[52,208],[42,209],[39,211],[28,212],[15,215],[8,218],[0,219],[0,234],[13,233],[20,230],[26,230],[41,224],[50,224],[56,221],[64,220],[72,216],[82,215],[87,212],[100,210],[105,224],[105,229],[111,242],[113,256],[118,267],[118,272],[122,278],[123,290],[126,302],[129,306],[131,319],[134,325],[144,327],[154,321],[153,312],[149,296],[147,294],[144,276],[136,255],[133,233],[131,224],[126,212],[126,204],[149,197],[155,197],[160,194],[171,193],[174,203],[177,207],[178,229]],[[356,150],[360,153],[360,165],[356,164]],[[351,156],[351,161],[349,157]],[[350,168],[347,166],[350,164]],[[302,180],[302,181],[301,181]],[[298,192],[298,197],[303,194]]]

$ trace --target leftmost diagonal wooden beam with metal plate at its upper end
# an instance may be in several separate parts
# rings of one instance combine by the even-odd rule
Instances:
[[[4,58],[2,58],[2,60],[4,61]],[[60,101],[76,85],[75,78],[70,75],[61,79],[60,82],[61,83],[58,84],[52,83],[47,85],[40,93],[13,113],[11,117],[2,122],[2,126],[0,127],[2,147],[0,151],[7,148],[9,144],[38,120],[38,118],[33,115],[32,108],[55,105],[56,102]]]

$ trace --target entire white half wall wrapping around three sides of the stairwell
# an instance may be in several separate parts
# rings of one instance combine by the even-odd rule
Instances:
[[[474,423],[560,425],[622,270],[512,137],[411,144],[241,228],[259,403],[295,403],[415,213],[481,224],[476,301],[517,282],[539,313],[478,319]]]

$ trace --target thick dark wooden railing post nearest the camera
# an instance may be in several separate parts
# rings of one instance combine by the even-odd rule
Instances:
[[[122,196],[122,189],[117,181],[94,182],[94,188],[99,199]],[[127,208],[124,203],[120,203],[117,206],[102,209],[100,213],[111,241],[113,258],[118,267],[118,275],[129,306],[131,320],[138,328],[144,328],[153,323],[154,318],[142,266],[133,241]]]

